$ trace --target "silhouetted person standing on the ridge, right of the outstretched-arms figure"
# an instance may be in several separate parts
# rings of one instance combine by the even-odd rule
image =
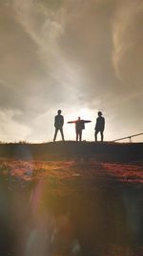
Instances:
[[[94,132],[95,141],[97,141],[97,134],[98,134],[98,132],[100,132],[100,134],[101,134],[101,141],[103,141],[103,139],[104,139],[104,135],[103,135],[104,128],[105,128],[105,119],[102,116],[102,112],[99,111],[98,112],[98,117],[96,119],[95,128],[94,128],[95,129],[95,132]]]

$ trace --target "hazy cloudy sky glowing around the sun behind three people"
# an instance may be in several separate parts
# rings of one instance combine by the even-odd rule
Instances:
[[[67,140],[99,110],[106,141],[143,132],[142,24],[142,0],[1,1],[0,141],[51,141],[58,109]]]

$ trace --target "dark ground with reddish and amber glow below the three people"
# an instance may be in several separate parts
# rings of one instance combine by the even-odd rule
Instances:
[[[142,256],[136,145],[0,145],[0,255]]]

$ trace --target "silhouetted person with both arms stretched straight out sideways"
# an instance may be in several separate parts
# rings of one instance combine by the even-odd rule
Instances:
[[[85,128],[85,123],[91,123],[92,121],[88,120],[81,120],[80,117],[78,117],[78,120],[70,121],[68,124],[75,124],[75,132],[76,132],[76,141],[82,140],[82,130]]]

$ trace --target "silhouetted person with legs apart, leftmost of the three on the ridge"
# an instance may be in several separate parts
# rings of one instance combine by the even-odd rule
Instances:
[[[64,141],[64,133],[63,133],[64,117],[61,115],[61,112],[62,112],[61,110],[58,110],[57,115],[54,117],[55,133],[54,133],[53,141],[56,140],[56,135],[58,130],[60,130],[62,140]]]

